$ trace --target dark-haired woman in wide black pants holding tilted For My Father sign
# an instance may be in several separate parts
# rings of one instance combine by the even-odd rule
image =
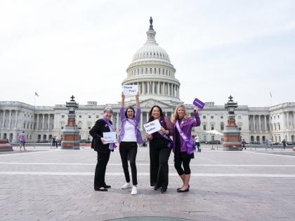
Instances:
[[[161,194],[167,192],[168,186],[168,160],[171,153],[172,141],[170,135],[173,135],[173,123],[167,116],[164,116],[161,107],[155,105],[150,109],[150,121],[159,120],[161,130],[149,134],[150,140],[150,185],[155,190],[161,188]]]

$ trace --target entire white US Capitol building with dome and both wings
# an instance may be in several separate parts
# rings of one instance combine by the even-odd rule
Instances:
[[[126,69],[127,77],[122,82],[122,85],[138,85],[142,111],[140,129],[143,135],[143,123],[147,121],[152,105],[159,105],[163,112],[171,117],[176,105],[183,103],[180,99],[181,83],[176,79],[176,69],[171,64],[169,55],[156,42],[152,18],[146,34],[147,41],[133,55],[133,60]],[[126,106],[129,104],[135,104],[134,97],[126,97]],[[120,105],[118,103],[108,106],[113,109],[112,122],[119,132]],[[193,116],[194,106],[185,106]],[[104,107],[105,105],[98,105],[97,102],[79,105],[76,121],[81,139],[91,139],[89,130],[103,116]],[[27,142],[51,140],[53,136],[60,139],[67,123],[67,112],[65,105],[34,107],[18,101],[0,101],[0,139],[16,142],[22,130],[25,130]],[[214,138],[205,131],[216,129],[223,132],[228,114],[225,107],[206,102],[206,107],[199,113],[202,124],[193,128],[192,134],[198,135],[199,140],[222,141],[223,138]],[[235,114],[242,139],[246,142],[263,142],[266,139],[274,142],[283,139],[295,142],[295,102],[272,107],[241,105],[237,107]]]

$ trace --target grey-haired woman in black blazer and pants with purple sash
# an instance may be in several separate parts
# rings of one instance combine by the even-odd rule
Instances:
[[[89,130],[89,134],[93,138],[91,148],[98,152],[98,162],[96,163],[96,173],[94,175],[94,189],[96,191],[107,191],[107,188],[111,187],[105,184],[105,170],[110,159],[110,152],[114,151],[116,145],[114,143],[107,144],[103,139],[103,133],[115,132],[112,121],[110,121],[111,118],[112,108],[105,107],[103,119],[98,119],[93,128]]]

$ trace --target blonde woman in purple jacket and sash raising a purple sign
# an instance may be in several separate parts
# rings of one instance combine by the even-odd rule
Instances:
[[[175,123],[173,134],[174,167],[183,181],[183,186],[178,188],[177,192],[188,192],[190,190],[190,159],[194,158],[195,150],[192,140],[192,127],[201,124],[198,110],[199,107],[195,107],[195,119],[189,116],[184,105],[178,105],[173,114],[172,123]]]

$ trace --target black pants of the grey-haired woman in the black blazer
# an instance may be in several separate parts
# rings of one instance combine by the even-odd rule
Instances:
[[[107,153],[98,152],[98,162],[96,163],[96,173],[94,175],[94,187],[105,186],[105,170],[110,159],[110,151]]]

